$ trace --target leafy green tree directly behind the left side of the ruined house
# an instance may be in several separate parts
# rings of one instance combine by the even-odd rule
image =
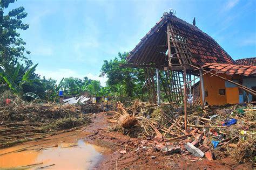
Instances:
[[[145,100],[146,88],[144,87],[144,70],[137,68],[122,68],[121,63],[126,63],[126,56],[129,53],[118,53],[118,58],[104,61],[100,76],[107,76],[107,87],[110,89],[110,96],[117,100],[129,100],[140,98]]]

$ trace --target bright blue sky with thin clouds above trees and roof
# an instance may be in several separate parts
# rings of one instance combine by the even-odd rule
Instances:
[[[36,72],[46,78],[100,80],[103,60],[131,51],[165,11],[213,37],[233,59],[256,56],[256,1],[18,0],[30,28],[21,32]]]

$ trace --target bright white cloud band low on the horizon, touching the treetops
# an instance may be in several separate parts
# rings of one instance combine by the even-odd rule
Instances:
[[[60,80],[63,79],[63,77],[78,77],[79,79],[88,77],[89,79],[100,81],[100,84],[102,86],[106,86],[106,81],[107,81],[106,77],[99,77],[98,75],[95,75],[92,73],[88,73],[84,75],[84,74],[77,73],[76,71],[69,68],[60,68],[56,70],[37,69],[36,73],[40,74],[41,78],[45,76],[45,79],[52,78],[54,80],[57,80],[57,83],[59,83]]]

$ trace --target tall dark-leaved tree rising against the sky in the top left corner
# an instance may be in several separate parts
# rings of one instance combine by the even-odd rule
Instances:
[[[16,66],[19,61],[24,61],[27,67],[32,65],[31,60],[26,57],[24,40],[20,37],[18,30],[26,30],[28,24],[24,24],[22,19],[27,16],[23,6],[6,11],[15,0],[0,1],[0,67]]]

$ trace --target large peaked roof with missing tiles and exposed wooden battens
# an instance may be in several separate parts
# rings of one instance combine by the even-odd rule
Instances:
[[[156,68],[170,66],[167,37],[171,43],[169,55],[172,65],[235,64],[231,56],[208,34],[167,12],[130,52],[127,56],[128,63],[138,66],[151,65]]]

